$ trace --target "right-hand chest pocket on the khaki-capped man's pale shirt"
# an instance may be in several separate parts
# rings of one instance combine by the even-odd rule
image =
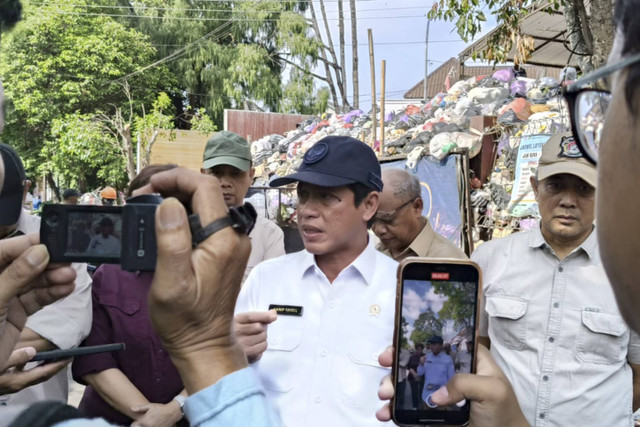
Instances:
[[[629,331],[621,316],[582,310],[577,358],[585,363],[621,362],[626,355]]]

